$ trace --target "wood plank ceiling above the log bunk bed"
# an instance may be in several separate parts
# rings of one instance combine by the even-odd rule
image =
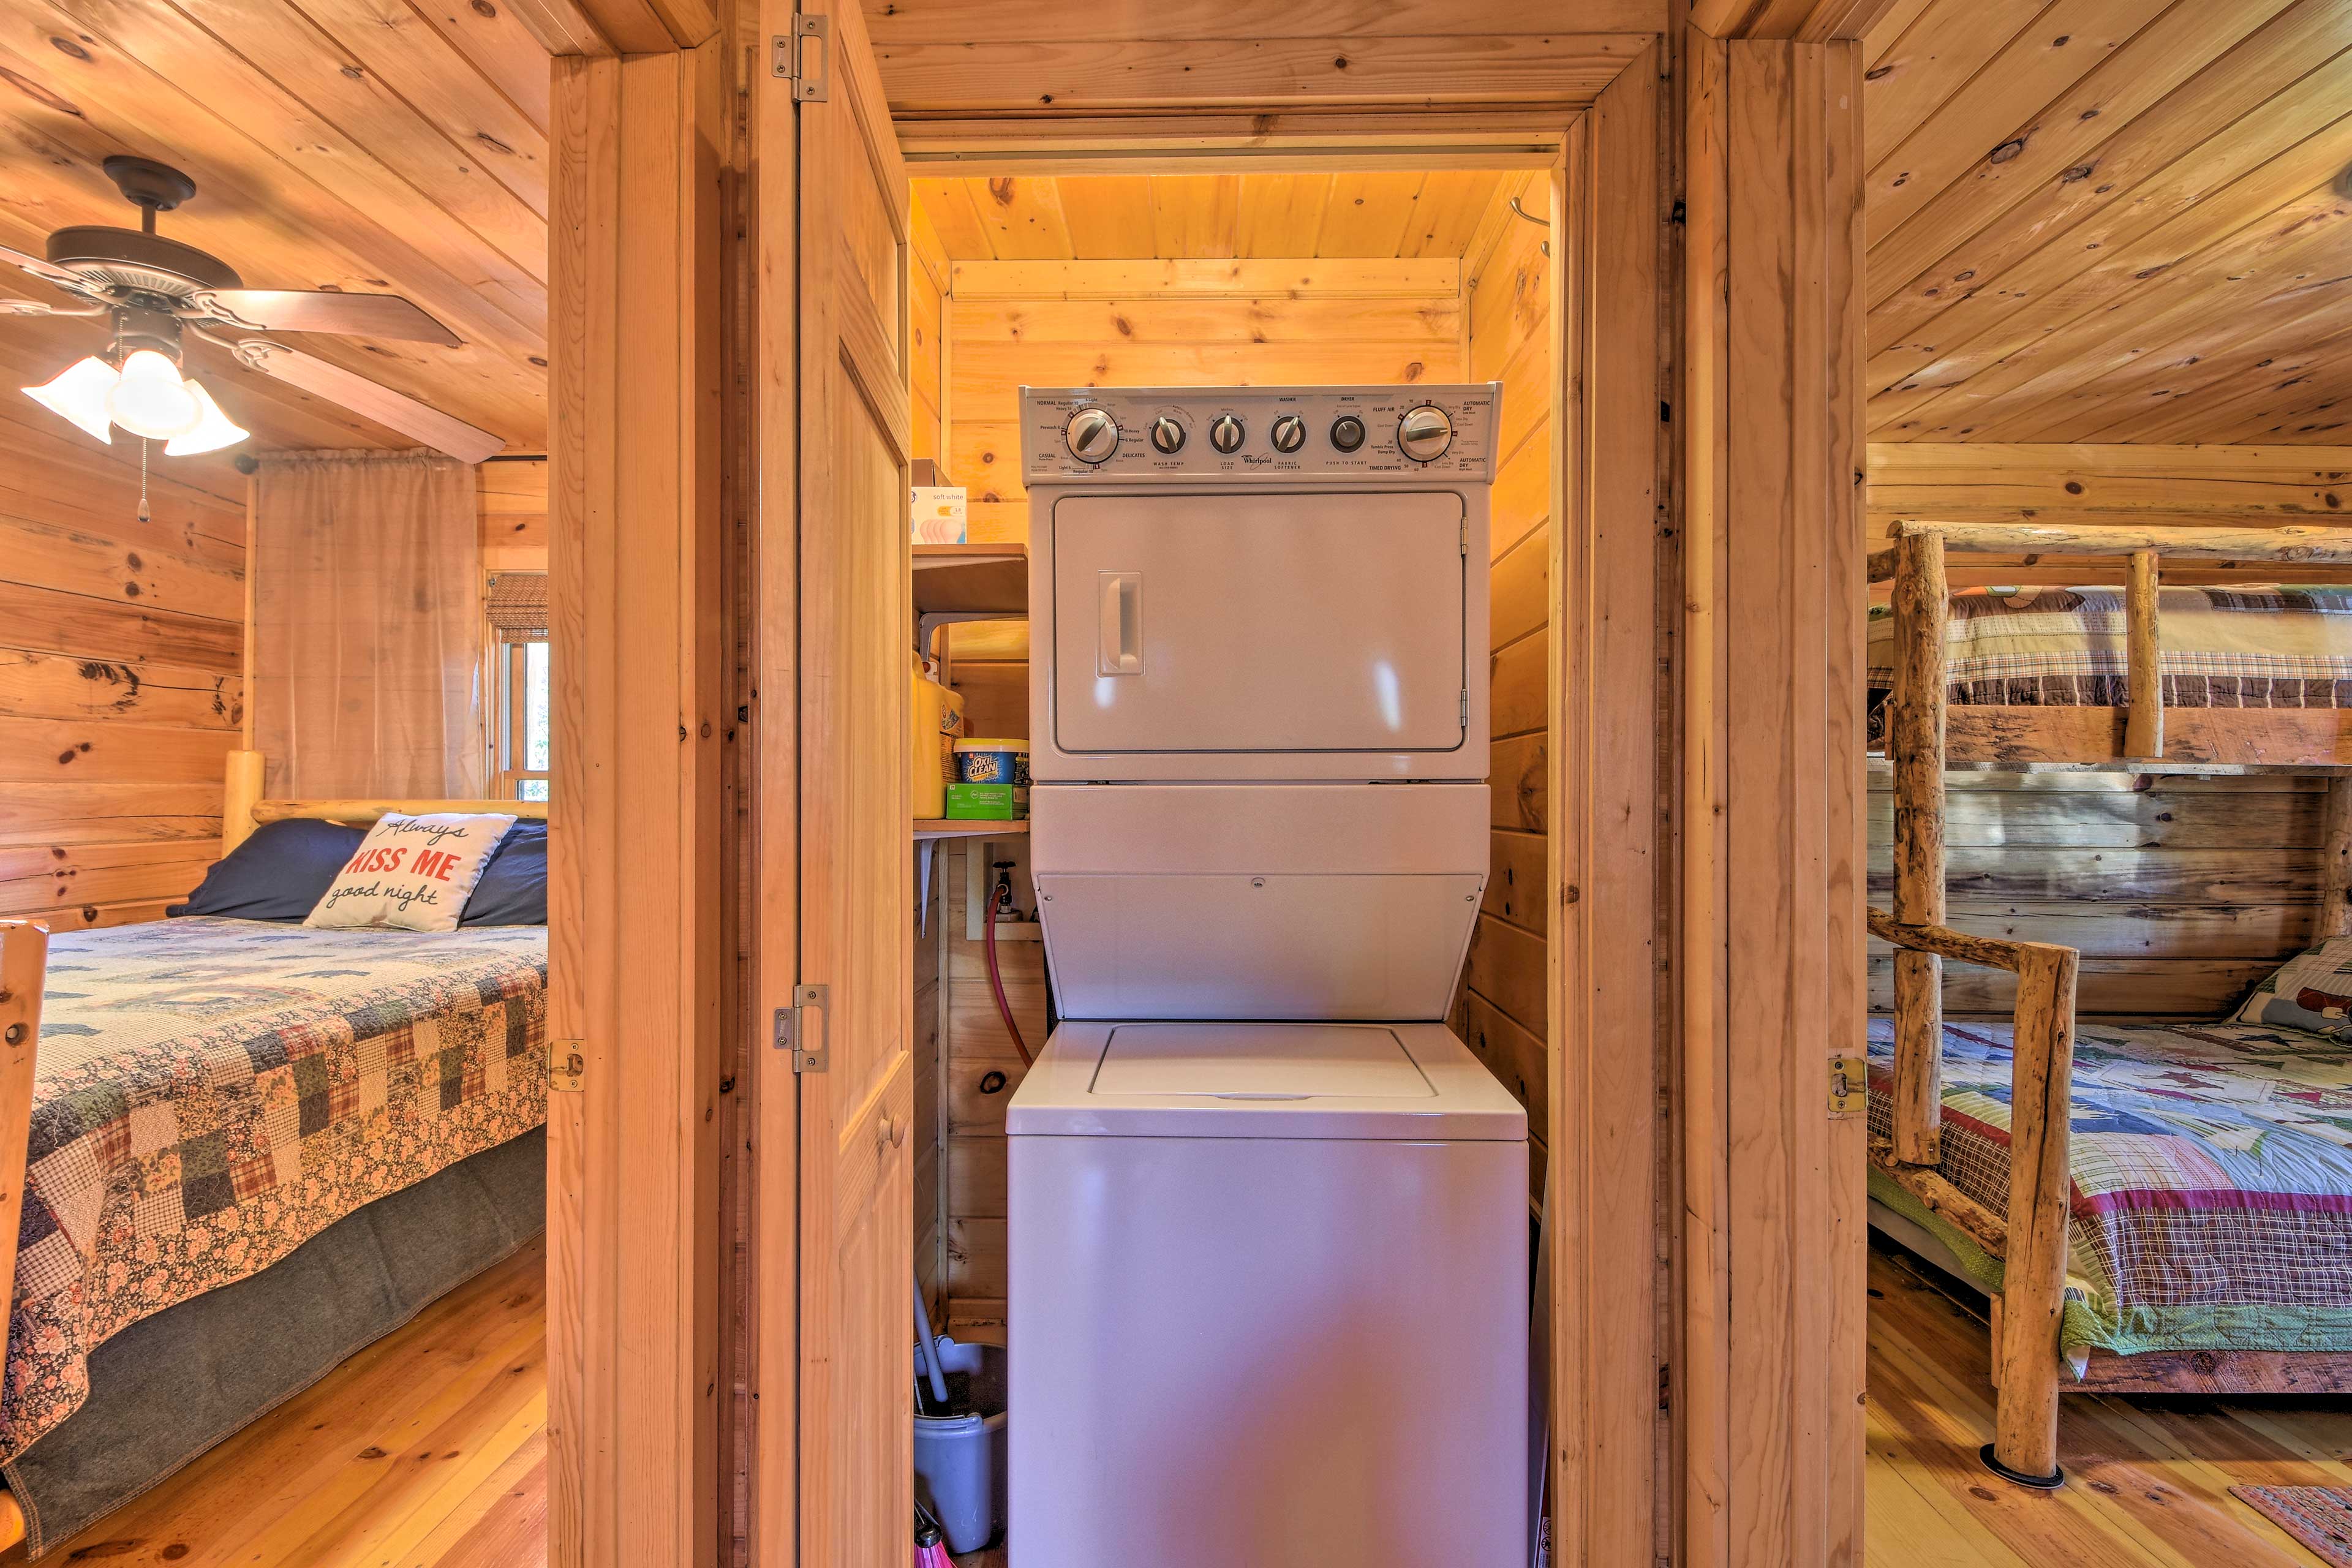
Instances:
[[[2352,0],[1896,0],[1875,442],[2352,430]]]

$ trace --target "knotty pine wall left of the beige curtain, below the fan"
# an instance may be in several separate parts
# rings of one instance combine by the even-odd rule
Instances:
[[[221,849],[245,480],[0,411],[0,914],[158,919]]]

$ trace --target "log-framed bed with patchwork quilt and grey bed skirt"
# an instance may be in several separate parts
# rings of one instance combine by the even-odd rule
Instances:
[[[266,823],[548,813],[263,799],[261,762],[228,757],[223,860]],[[56,1547],[539,1232],[543,919],[0,922],[0,1552]]]

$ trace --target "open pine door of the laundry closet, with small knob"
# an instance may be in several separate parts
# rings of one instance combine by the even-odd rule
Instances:
[[[896,1566],[913,1516],[908,183],[856,5],[797,110],[800,1561]],[[781,92],[781,85],[779,85]]]

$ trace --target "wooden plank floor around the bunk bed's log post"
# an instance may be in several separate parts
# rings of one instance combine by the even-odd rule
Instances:
[[[2319,1559],[2230,1495],[2232,1483],[2352,1486],[2352,1401],[2070,1394],[2056,1493],[2009,1486],[1992,1439],[1983,1312],[1870,1255],[1872,1568],[2312,1568]]]

